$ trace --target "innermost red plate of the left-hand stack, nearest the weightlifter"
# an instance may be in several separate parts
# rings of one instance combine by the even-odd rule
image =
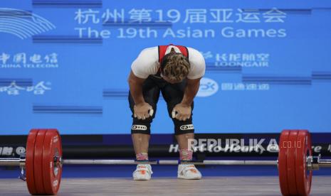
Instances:
[[[56,129],[48,129],[43,141],[43,187],[47,195],[56,195],[61,183],[62,165],[54,157],[62,158],[61,137]]]

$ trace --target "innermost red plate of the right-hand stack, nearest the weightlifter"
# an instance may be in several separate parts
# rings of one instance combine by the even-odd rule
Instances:
[[[289,130],[283,130],[279,138],[279,152],[278,152],[278,175],[279,185],[282,195],[290,195],[288,190],[288,136]]]

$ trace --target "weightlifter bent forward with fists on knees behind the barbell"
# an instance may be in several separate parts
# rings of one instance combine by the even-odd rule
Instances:
[[[192,159],[188,139],[194,138],[193,99],[205,72],[204,57],[194,48],[182,45],[159,45],[142,50],[132,62],[128,79],[129,103],[132,111],[132,141],[136,159],[142,161],[133,173],[134,180],[149,180],[152,168],[148,160],[150,125],[157,111],[160,92],[167,102],[174,134],[179,143],[183,163]],[[190,164],[179,164],[178,178],[200,179],[201,173]]]

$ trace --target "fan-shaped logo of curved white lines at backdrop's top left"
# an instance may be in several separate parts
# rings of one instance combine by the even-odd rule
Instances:
[[[56,28],[45,18],[31,11],[0,8],[0,32],[10,33],[21,38],[30,38]]]

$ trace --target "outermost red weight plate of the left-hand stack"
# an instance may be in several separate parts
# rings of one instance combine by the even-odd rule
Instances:
[[[36,185],[34,183],[34,145],[36,143],[36,136],[38,129],[31,129],[26,140],[26,185],[28,186],[28,192],[31,195],[36,195]]]

